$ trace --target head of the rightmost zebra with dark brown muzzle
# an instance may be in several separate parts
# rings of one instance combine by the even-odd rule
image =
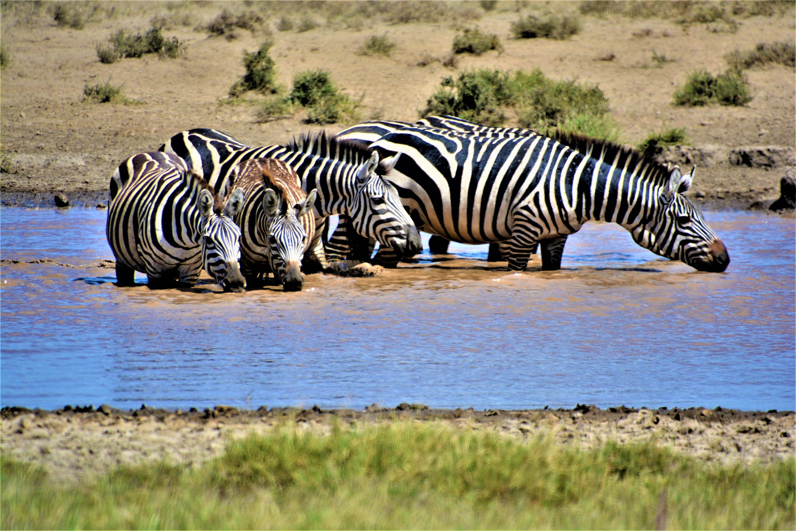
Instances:
[[[630,232],[637,244],[657,255],[681,260],[698,271],[720,273],[730,264],[727,248],[693,203],[681,195],[691,186],[694,170],[683,175],[674,166],[658,197],[653,219]]]

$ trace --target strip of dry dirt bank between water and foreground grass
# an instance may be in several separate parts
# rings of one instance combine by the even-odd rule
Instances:
[[[167,459],[201,463],[224,449],[228,437],[283,424],[327,433],[335,422],[352,426],[416,420],[439,421],[466,430],[494,430],[518,439],[551,436],[560,444],[592,447],[654,440],[695,459],[720,463],[770,462],[794,455],[794,412],[740,412],[716,408],[602,410],[429,409],[400,404],[365,411],[217,406],[204,412],[145,408],[122,412],[107,405],[48,412],[3,408],[0,447],[6,457],[41,463],[53,476],[72,480],[119,464]]]

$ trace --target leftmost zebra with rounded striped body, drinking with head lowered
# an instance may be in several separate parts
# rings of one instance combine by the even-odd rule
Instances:
[[[110,183],[105,234],[116,258],[119,286],[135,285],[135,271],[150,287],[192,286],[202,267],[224,287],[244,291],[240,229],[232,218],[241,189],[226,201],[181,158],[150,152],[127,158]]]

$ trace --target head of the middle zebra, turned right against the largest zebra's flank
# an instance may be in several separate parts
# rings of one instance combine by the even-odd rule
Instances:
[[[392,170],[398,157],[400,153],[385,158],[380,173]],[[355,190],[348,200],[353,228],[362,236],[392,248],[398,256],[414,256],[422,248],[415,222],[401,205],[395,186],[377,174],[377,169],[379,154],[373,150],[368,163],[357,172]]]

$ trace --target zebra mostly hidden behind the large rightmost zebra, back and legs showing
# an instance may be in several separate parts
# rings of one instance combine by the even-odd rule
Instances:
[[[371,144],[382,136],[396,131],[401,127],[429,127],[435,129],[447,129],[457,131],[466,135],[478,135],[486,138],[503,138],[509,136],[537,136],[539,133],[531,129],[521,129],[519,127],[489,127],[469,120],[457,118],[449,115],[427,116],[419,119],[416,123],[398,122],[395,120],[372,120],[369,122],[357,123],[338,133],[338,139],[352,139]],[[349,241],[350,240],[350,241]],[[443,236],[432,235],[428,240],[428,248],[432,254],[445,254],[450,240]],[[349,256],[353,260],[367,261],[373,254],[373,240],[364,241],[356,233],[349,236],[349,220],[345,216],[340,217],[338,227],[326,244],[326,257],[330,260],[342,260]],[[501,246],[503,249],[501,250]],[[537,246],[533,246],[531,254],[536,254]],[[487,261],[499,261],[503,256],[508,255],[508,246],[503,243],[490,244],[489,256]],[[380,263],[382,260],[392,262],[395,260],[391,253],[380,251],[378,254]]]

